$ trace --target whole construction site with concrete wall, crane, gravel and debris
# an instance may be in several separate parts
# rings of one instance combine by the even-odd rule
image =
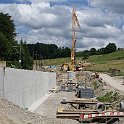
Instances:
[[[124,124],[124,78],[76,62],[80,29],[73,9],[70,63],[30,71],[0,67],[0,124]]]

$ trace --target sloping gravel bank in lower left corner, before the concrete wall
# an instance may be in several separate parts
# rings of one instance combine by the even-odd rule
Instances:
[[[20,108],[0,98],[0,124],[64,124],[59,119],[47,118]]]

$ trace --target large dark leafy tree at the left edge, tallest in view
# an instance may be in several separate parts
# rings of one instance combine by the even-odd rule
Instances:
[[[15,57],[13,48],[17,45],[15,36],[15,26],[11,16],[0,13],[0,58],[12,60]]]

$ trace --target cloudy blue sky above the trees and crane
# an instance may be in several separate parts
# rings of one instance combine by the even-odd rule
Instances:
[[[76,49],[124,47],[123,0],[0,0],[0,12],[14,20],[16,39],[27,43],[72,44],[72,9],[80,23]]]

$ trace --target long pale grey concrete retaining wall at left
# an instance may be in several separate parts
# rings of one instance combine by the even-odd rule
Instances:
[[[28,108],[56,85],[56,73],[0,68],[0,96]]]

